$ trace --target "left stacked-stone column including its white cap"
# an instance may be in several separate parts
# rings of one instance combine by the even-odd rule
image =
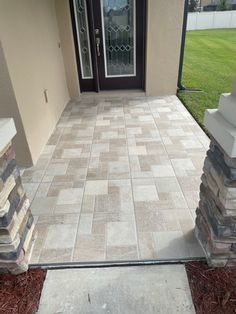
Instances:
[[[13,119],[0,119],[0,272],[19,274],[28,269],[35,233],[11,143],[15,134]]]

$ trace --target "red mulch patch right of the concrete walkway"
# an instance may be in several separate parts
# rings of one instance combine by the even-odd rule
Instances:
[[[210,268],[203,262],[185,267],[197,314],[236,313],[236,267]]]

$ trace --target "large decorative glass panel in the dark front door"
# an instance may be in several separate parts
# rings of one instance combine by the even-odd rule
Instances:
[[[135,76],[135,0],[101,0],[106,77]]]

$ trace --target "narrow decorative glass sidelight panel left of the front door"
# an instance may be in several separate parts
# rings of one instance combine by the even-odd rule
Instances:
[[[86,0],[74,0],[80,67],[83,79],[93,78]]]

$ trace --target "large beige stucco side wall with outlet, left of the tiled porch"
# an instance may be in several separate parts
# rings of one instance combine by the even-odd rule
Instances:
[[[21,164],[29,165],[38,159],[69,101],[54,0],[1,0],[0,39],[18,107],[11,115],[18,110],[24,128],[17,135],[25,153]],[[23,152],[27,144],[30,156]]]

